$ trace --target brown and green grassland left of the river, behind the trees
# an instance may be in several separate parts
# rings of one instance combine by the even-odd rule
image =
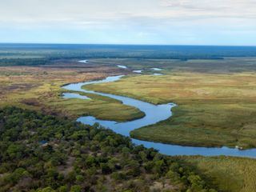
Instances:
[[[62,85],[120,74],[117,68],[58,61],[50,66],[0,67],[0,106],[21,106],[71,118],[94,115],[101,119],[128,121],[144,114],[117,100],[88,94],[90,100],[64,99]],[[122,113],[120,113],[122,111]]]

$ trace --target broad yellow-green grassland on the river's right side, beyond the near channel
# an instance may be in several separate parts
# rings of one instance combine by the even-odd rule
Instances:
[[[256,146],[256,75],[251,64],[253,60],[244,61],[247,67],[245,64],[242,72],[228,71],[233,61],[231,71],[238,71],[242,60],[238,62],[232,58],[226,61],[228,65],[222,62],[226,73],[218,74],[215,73],[218,67],[210,65],[209,69],[208,63],[201,72],[202,63],[191,61],[186,64],[190,68],[181,70],[180,66],[166,69],[165,65],[161,66],[161,61],[158,67],[166,69],[166,75],[130,76],[118,82],[88,87],[154,104],[178,104],[172,118],[134,130],[131,133],[134,138],[186,146],[251,148]],[[193,62],[195,67],[191,64]],[[173,70],[170,70],[171,67]]]

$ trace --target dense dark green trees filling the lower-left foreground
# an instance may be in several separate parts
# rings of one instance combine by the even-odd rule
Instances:
[[[98,125],[0,110],[0,191],[210,191],[193,166]]]

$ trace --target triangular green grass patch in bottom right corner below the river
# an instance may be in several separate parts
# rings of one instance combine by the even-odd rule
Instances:
[[[196,166],[214,186],[226,192],[256,191],[256,161],[250,158],[179,157]]]

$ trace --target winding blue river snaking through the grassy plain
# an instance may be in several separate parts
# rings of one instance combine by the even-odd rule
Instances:
[[[98,94],[98,95],[117,99],[125,105],[134,106],[139,110],[142,110],[142,112],[146,114],[143,118],[139,118],[130,122],[114,122],[114,121],[100,120],[92,116],[86,116],[86,117],[78,118],[77,121],[85,124],[89,124],[89,125],[94,125],[94,123],[98,122],[100,125],[105,126],[111,130],[114,130],[114,132],[118,134],[122,134],[124,136],[130,136],[131,130],[136,130],[142,126],[149,126],[171,117],[172,115],[171,109],[174,106],[176,106],[174,103],[168,103],[163,105],[153,105],[148,102],[142,102],[134,98],[128,98],[128,97],[123,97],[123,96],[114,95],[114,94],[105,94],[105,93],[95,92],[93,90],[82,89],[82,86],[85,86],[85,85],[97,84],[97,83],[103,83],[103,82],[115,82],[122,77],[123,75],[119,75],[119,76],[108,77],[99,81],[73,83],[73,84],[63,86],[63,88],[66,90],[81,91],[84,93]],[[65,98],[90,99],[90,98],[87,98],[86,96],[82,96],[79,94],[64,94],[64,96]],[[225,146],[221,148],[178,146],[178,145],[171,145],[171,144],[163,144],[159,142],[146,142],[146,141],[141,141],[134,138],[132,138],[132,142],[134,142],[136,145],[146,146],[147,148],[152,147],[158,150],[161,154],[167,154],[167,155],[203,155],[203,156],[229,155],[229,156],[237,156],[237,157],[256,158],[256,149],[238,150],[238,149],[228,148]]]

